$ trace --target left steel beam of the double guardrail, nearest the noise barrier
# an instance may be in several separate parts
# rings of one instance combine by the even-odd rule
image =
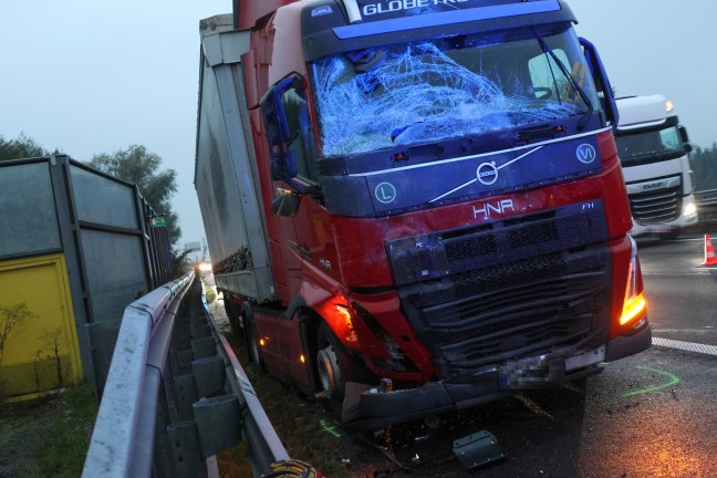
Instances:
[[[189,272],[125,309],[84,477],[150,475],[152,453],[147,450],[154,446],[147,445],[154,444],[157,378],[164,368],[157,365],[166,360],[166,332],[173,329],[170,322],[193,280],[194,272]]]

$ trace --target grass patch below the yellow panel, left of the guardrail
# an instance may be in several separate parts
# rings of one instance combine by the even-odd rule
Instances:
[[[0,476],[82,475],[98,403],[90,382],[0,412]],[[3,472],[4,470],[4,472]]]

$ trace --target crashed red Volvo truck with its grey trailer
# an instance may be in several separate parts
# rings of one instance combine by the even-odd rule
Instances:
[[[250,358],[350,429],[651,345],[595,48],[561,0],[257,0],[200,22],[195,186]]]

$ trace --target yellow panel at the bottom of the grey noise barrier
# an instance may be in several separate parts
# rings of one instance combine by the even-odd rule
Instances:
[[[0,398],[29,398],[79,382],[64,256],[0,262]]]

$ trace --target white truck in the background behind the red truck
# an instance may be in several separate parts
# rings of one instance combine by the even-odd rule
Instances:
[[[687,129],[659,94],[617,98],[615,132],[633,216],[632,236],[674,239],[697,222]]]

